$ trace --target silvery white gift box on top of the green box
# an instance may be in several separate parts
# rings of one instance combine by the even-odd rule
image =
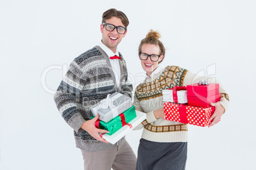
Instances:
[[[130,107],[132,107],[131,98],[115,92],[90,107],[90,110],[95,116],[99,114],[101,121],[109,122]]]

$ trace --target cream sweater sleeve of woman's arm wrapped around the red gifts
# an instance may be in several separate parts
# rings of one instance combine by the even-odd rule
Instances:
[[[210,82],[210,83],[220,84],[219,91],[220,91],[221,98],[220,98],[220,101],[218,101],[218,103],[220,103],[226,110],[229,106],[229,95],[225,91],[223,85],[217,79],[212,78],[212,77],[204,77],[202,75],[197,75],[197,74],[194,74],[194,73],[188,71],[184,77],[183,85],[181,85],[181,86],[187,86],[189,84],[194,84],[194,83],[204,80],[204,79],[208,80],[208,82]]]

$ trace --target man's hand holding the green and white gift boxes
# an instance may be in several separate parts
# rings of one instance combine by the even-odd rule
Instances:
[[[92,137],[96,138],[97,141],[103,141],[104,143],[108,143],[108,141],[101,138],[99,133],[109,133],[109,131],[106,131],[104,129],[98,129],[95,126],[95,122],[99,118],[99,115],[97,114],[94,119],[86,121],[82,124],[81,128],[87,131]]]

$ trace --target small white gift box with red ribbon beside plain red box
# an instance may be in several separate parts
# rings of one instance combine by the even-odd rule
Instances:
[[[175,86],[171,89],[164,89],[162,91],[163,100],[173,103],[187,103],[187,88],[185,86]]]

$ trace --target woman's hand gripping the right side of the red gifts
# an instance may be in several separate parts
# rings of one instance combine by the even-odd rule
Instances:
[[[209,122],[211,122],[211,120],[213,120],[211,122],[211,124],[208,126],[208,128],[217,124],[220,120],[220,117],[222,117],[222,115],[225,112],[225,108],[222,105],[220,105],[220,103],[218,103],[218,102],[217,103],[212,103],[211,102],[210,104],[211,104],[211,106],[215,107],[215,111],[213,112],[213,115],[211,115],[211,117],[208,121],[208,123],[209,123]]]

